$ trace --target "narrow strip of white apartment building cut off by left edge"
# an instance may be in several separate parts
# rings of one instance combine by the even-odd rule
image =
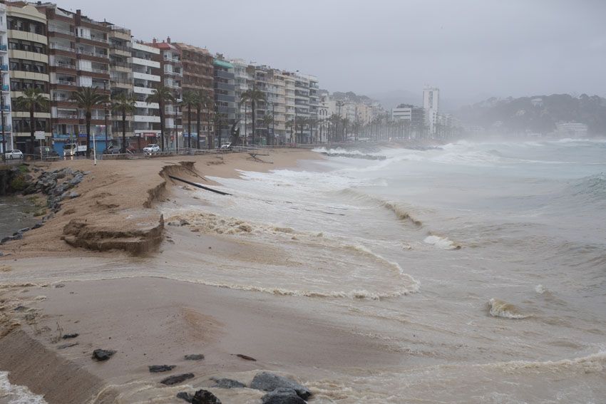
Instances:
[[[6,5],[0,3],[0,86],[1,86],[1,113],[0,121],[0,152],[14,148],[11,136],[11,77],[9,73],[9,37],[6,32]],[[6,149],[6,150],[5,150]]]

